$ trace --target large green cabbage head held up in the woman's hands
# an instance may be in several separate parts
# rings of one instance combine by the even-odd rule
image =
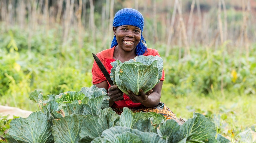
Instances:
[[[110,77],[125,94],[131,90],[138,95],[139,90],[150,91],[159,83],[163,72],[163,59],[159,56],[136,56],[126,62],[116,60],[111,63]]]

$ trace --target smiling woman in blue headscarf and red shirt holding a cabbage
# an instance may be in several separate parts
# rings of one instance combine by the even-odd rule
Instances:
[[[147,48],[146,41],[142,36],[143,26],[144,18],[137,10],[124,8],[116,12],[113,20],[114,38],[111,48],[96,54],[109,73],[112,68],[110,63],[115,60],[125,62],[138,55],[160,57],[157,50]],[[117,85],[110,86],[95,61],[92,67],[92,83],[98,88],[108,90],[108,96],[113,100],[110,100],[110,107],[119,115],[122,113],[123,107],[128,107],[133,112],[161,113],[166,119],[178,122],[174,113],[160,102],[163,80],[164,71],[160,82],[152,90],[147,93],[140,90],[140,96],[127,91],[129,95],[126,95],[118,89]]]

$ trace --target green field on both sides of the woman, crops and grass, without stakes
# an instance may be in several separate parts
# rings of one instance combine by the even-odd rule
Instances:
[[[61,30],[51,29],[46,36],[38,30],[33,33],[28,49],[29,31],[3,27],[0,29],[0,105],[38,111],[37,104],[29,100],[29,93],[34,90],[42,91],[47,97],[91,87],[91,53],[102,49],[93,48],[88,37],[84,36],[84,45],[79,49],[75,31],[70,33],[68,46],[63,46]],[[98,40],[97,45],[100,44]],[[165,57],[166,45],[148,42],[148,47],[162,55],[165,81],[161,101],[177,117],[186,120],[193,112],[202,113],[216,123],[218,133],[233,141],[238,141],[239,133],[248,128],[255,131],[255,45],[249,58],[238,50],[228,53],[229,47],[225,45],[217,50],[191,47],[191,56],[182,59],[178,58],[178,48],[174,47]]]

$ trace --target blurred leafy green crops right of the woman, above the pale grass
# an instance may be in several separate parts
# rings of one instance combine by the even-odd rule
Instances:
[[[161,46],[156,46],[161,47]],[[172,95],[214,94],[223,89],[239,95],[255,95],[256,89],[256,58],[255,45],[250,55],[239,49],[228,53],[226,46],[215,50],[209,48],[191,47],[191,57],[178,60],[178,48],[174,48],[172,55],[164,57],[166,92]],[[160,55],[164,55],[165,47],[159,48]],[[165,86],[165,85],[164,85]],[[163,87],[163,90],[165,88]]]

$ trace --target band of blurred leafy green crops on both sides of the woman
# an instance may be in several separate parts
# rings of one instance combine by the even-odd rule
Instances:
[[[12,27],[0,35],[1,104],[33,110],[24,100],[31,91],[37,89],[48,95],[79,91],[92,85],[91,53],[101,49],[92,46],[88,35],[83,35],[83,47],[79,49],[78,35],[74,30],[63,44],[61,31],[60,27],[47,33],[37,30],[29,38],[31,31]],[[97,45],[100,45],[99,41]],[[180,60],[178,47],[173,47],[171,55],[164,57],[166,45],[151,45],[149,42],[148,46],[157,49],[164,60],[162,96],[213,95],[221,89],[221,80],[225,91],[255,95],[255,45],[248,58],[239,49],[228,53],[228,47],[223,45],[217,50],[191,47],[191,56]],[[9,97],[13,101],[9,101]]]

